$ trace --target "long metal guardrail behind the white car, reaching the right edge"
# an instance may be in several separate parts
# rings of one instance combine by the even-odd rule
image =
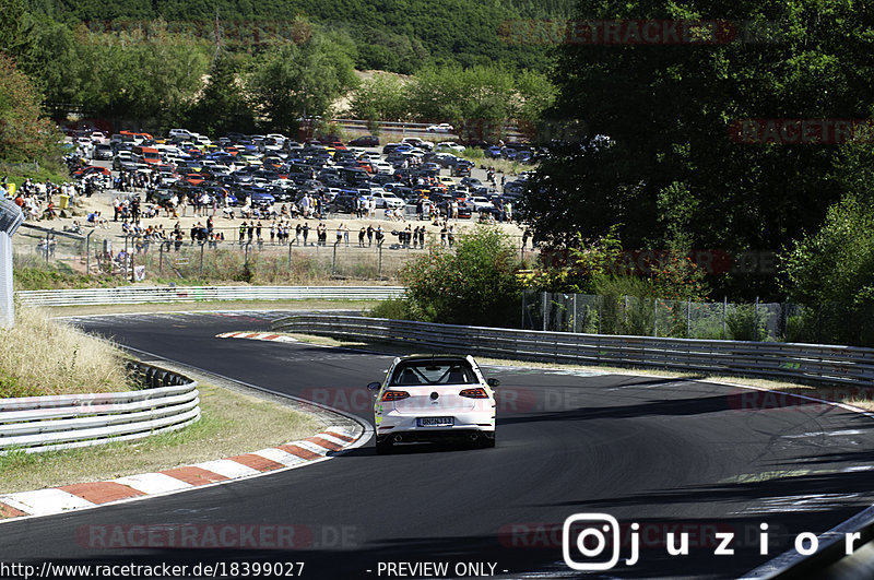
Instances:
[[[874,348],[852,346],[572,334],[330,315],[290,316],[276,320],[273,330],[522,360],[700,370],[858,387],[874,381]]]

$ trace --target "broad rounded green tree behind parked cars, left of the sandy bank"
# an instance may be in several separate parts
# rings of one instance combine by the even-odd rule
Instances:
[[[270,128],[294,133],[303,118],[327,116],[331,103],[356,84],[352,62],[318,31],[305,43],[272,48],[249,75],[252,105]]]

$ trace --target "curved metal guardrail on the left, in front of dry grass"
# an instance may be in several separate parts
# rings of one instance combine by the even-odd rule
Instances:
[[[151,365],[132,367],[142,390],[0,399],[0,453],[139,439],[200,418],[196,381]]]

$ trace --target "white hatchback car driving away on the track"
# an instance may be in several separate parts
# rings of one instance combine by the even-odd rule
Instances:
[[[376,450],[395,443],[462,440],[495,447],[494,389],[472,356],[412,355],[395,358],[376,393]]]

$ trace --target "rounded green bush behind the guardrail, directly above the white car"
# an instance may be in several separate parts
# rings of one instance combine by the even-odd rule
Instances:
[[[454,251],[433,246],[405,267],[412,311],[432,322],[506,325],[519,308],[516,249],[496,228],[479,226],[459,236]]]

